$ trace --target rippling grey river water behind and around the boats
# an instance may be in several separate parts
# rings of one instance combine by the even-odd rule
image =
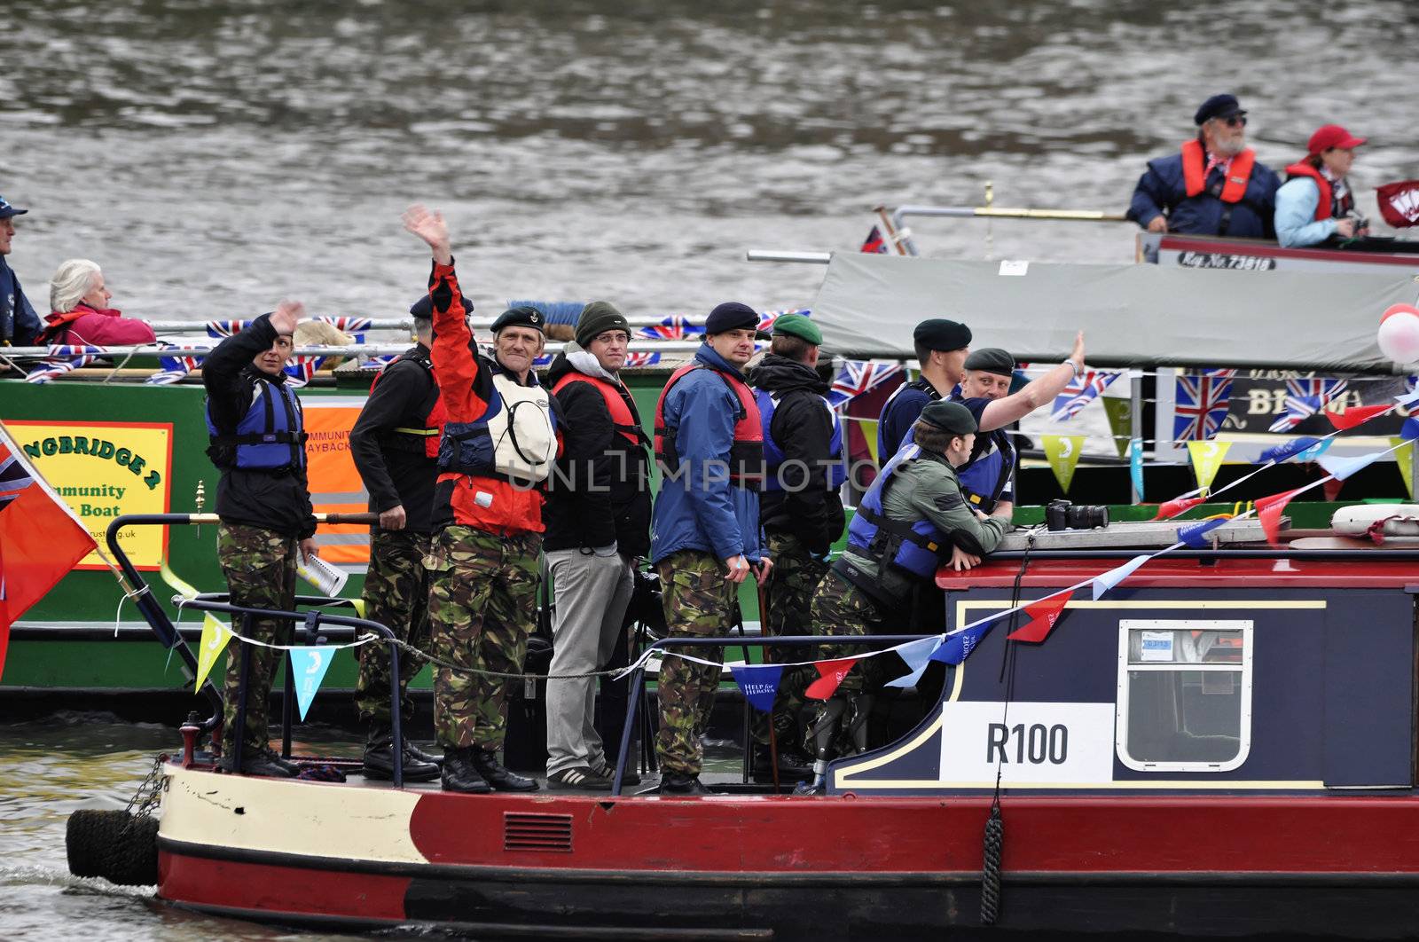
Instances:
[[[4,0],[0,193],[31,209],[9,260],[37,305],[89,257],[133,315],[393,315],[427,274],[397,221],[421,200],[484,309],[799,306],[822,270],[746,248],[851,250],[874,204],[978,204],[988,180],[999,206],[1121,211],[1218,91],[1274,167],[1324,122],[1369,136],[1372,218],[1375,184],[1419,176],[1419,4],[1175,7]],[[1117,224],[917,234],[935,255],[1132,257]],[[126,799],[173,742],[0,715],[0,936],[284,938],[68,878],[64,817]]]

